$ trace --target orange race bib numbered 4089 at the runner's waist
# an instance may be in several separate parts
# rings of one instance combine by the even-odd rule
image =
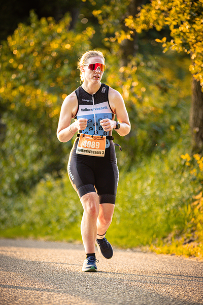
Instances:
[[[80,134],[76,154],[104,157],[106,137]]]

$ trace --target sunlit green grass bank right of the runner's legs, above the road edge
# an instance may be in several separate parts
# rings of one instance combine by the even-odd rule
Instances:
[[[183,172],[179,151],[154,156],[121,175],[111,238],[119,246],[150,245],[171,232],[185,232],[194,194],[190,173]],[[196,186],[197,187],[197,186]]]

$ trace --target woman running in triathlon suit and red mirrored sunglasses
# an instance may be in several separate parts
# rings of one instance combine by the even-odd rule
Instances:
[[[125,136],[130,132],[130,122],[120,93],[101,83],[106,69],[103,53],[85,52],[78,68],[82,85],[63,101],[57,137],[67,142],[78,132],[67,171],[84,209],[81,234],[86,259],[82,271],[95,272],[95,244],[101,256],[113,256],[105,237],[112,222],[119,180],[112,130]],[[71,124],[72,118],[75,121]]]

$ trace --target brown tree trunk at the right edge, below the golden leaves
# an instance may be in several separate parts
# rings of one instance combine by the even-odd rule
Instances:
[[[203,151],[203,93],[200,82],[192,79],[192,106],[190,110],[192,130],[192,151],[201,154]]]

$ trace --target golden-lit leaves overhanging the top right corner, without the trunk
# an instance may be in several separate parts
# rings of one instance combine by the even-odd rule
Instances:
[[[203,0],[151,0],[140,10],[138,16],[128,16],[125,25],[141,33],[155,27],[157,31],[167,25],[170,28],[171,41],[166,37],[156,39],[162,43],[164,52],[169,48],[177,52],[190,54],[192,64],[189,70],[203,85],[202,34],[203,34]]]

